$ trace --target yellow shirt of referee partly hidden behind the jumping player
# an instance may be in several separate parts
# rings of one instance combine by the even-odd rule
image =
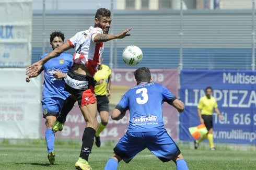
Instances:
[[[104,79],[101,84],[95,86],[96,95],[106,95],[107,94],[107,85],[109,81],[109,76],[111,75],[111,69],[109,66],[102,64],[101,69],[98,70],[94,76],[94,79],[98,82],[100,79]]]

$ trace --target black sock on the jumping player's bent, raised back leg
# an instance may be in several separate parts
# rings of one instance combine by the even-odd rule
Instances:
[[[60,115],[57,117],[57,120],[60,123],[64,123],[66,121],[67,114],[72,110],[75,103],[76,100],[73,100],[71,95],[69,95],[62,106]]]

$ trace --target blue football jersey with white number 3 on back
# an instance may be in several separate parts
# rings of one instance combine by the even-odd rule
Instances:
[[[129,132],[158,131],[164,129],[162,106],[176,98],[159,83],[142,82],[127,91],[115,107],[122,113],[130,110]]]

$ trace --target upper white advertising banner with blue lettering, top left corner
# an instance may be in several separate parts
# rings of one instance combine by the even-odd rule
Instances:
[[[32,1],[0,1],[0,68],[31,64]]]

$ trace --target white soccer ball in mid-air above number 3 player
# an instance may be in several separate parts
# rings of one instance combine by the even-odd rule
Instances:
[[[142,50],[135,45],[129,45],[123,50],[123,62],[129,66],[135,66],[142,60]]]

